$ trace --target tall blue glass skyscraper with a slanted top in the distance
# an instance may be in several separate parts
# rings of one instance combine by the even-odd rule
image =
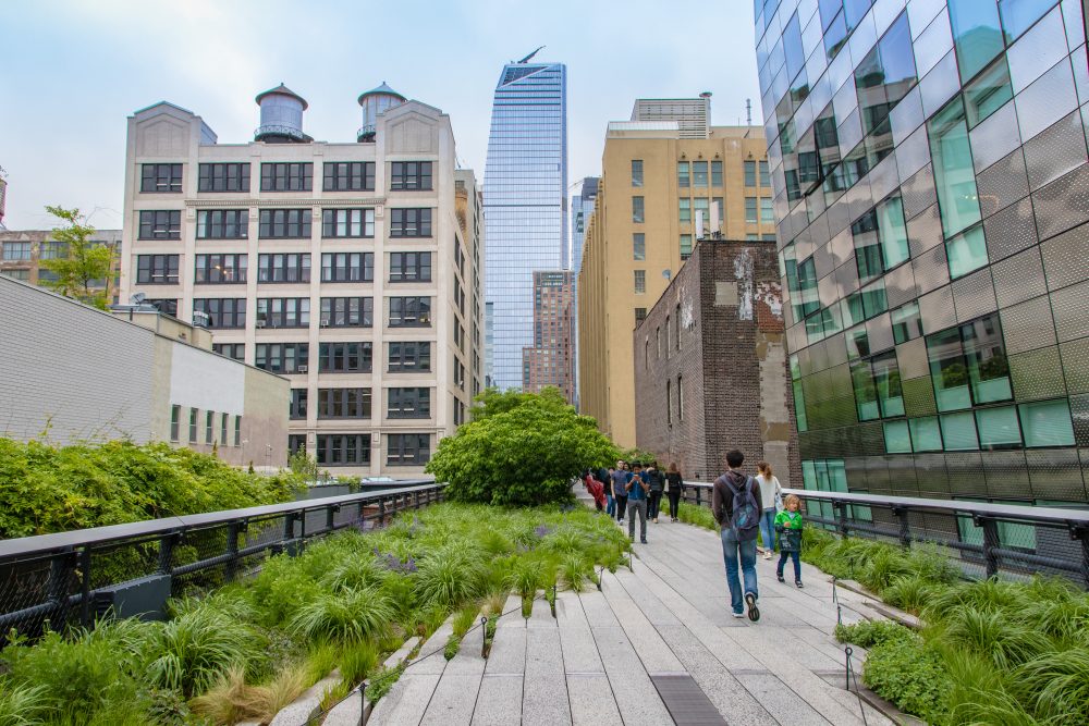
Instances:
[[[567,239],[567,70],[503,66],[485,169],[488,379],[521,389],[534,345],[534,271],[556,270]]]

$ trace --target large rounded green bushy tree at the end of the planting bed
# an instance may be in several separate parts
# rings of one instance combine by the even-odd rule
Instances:
[[[559,394],[559,391],[555,392]],[[489,391],[482,416],[439,442],[427,471],[460,502],[533,506],[571,497],[571,480],[616,458],[616,446],[589,416],[552,392]],[[512,405],[512,402],[516,402]]]

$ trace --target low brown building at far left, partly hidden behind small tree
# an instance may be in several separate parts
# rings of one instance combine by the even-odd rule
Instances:
[[[113,248],[113,274],[91,281],[91,290],[107,291],[107,297],[118,303],[118,283],[121,275],[121,230],[95,230],[93,244]],[[44,260],[68,256],[68,246],[53,239],[50,230],[0,230],[0,274],[22,280],[33,285],[57,279],[57,274],[41,264]]]

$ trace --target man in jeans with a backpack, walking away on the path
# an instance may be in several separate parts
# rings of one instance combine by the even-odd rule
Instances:
[[[724,475],[714,480],[711,490],[711,512],[722,536],[722,557],[726,564],[726,585],[730,588],[730,606],[734,617],[748,616],[754,623],[760,619],[756,583],[756,537],[760,526],[760,484],[742,473],[745,455],[736,448],[726,453]],[[738,559],[745,589],[737,579]],[[744,598],[742,593],[744,592]]]

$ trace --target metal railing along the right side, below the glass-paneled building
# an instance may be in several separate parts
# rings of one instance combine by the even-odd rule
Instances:
[[[711,506],[711,484],[685,482],[682,497]],[[843,537],[934,543],[958,555],[965,574],[1060,575],[1089,588],[1089,508],[1065,509],[914,496],[784,489],[806,519]]]

